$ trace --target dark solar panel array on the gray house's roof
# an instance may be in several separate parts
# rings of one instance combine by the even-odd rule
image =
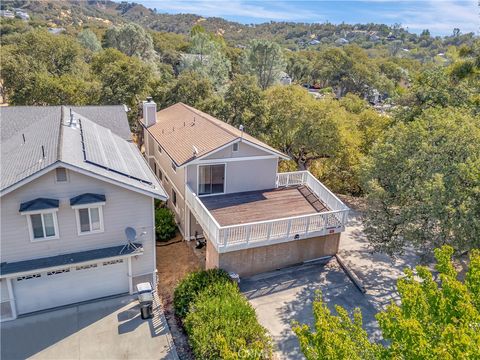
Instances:
[[[133,144],[114,135],[110,129],[82,118],[80,120],[84,160],[109,171],[151,184],[146,164],[138,159]]]

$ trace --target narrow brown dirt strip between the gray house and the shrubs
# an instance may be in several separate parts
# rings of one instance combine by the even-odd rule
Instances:
[[[188,339],[173,310],[173,291],[178,282],[188,273],[205,267],[202,252],[193,242],[182,240],[177,235],[168,243],[157,242],[158,294],[165,309],[165,317],[172,333],[173,342],[180,359],[194,359]]]

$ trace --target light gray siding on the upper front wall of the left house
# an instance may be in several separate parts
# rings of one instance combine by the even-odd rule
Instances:
[[[132,259],[133,276],[155,271],[154,220],[152,198],[119,186],[68,171],[69,181],[55,182],[55,171],[31,181],[2,197],[2,261],[50,257],[126,243],[125,228],[136,229],[144,254]],[[105,194],[104,232],[78,235],[75,210],[70,198],[83,193]],[[59,199],[57,212],[59,238],[32,242],[26,215],[19,212],[20,203],[38,197]],[[146,235],[141,236],[142,232]]]

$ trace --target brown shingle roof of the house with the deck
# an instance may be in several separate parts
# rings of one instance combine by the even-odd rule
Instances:
[[[148,131],[177,166],[207,155],[242,137],[239,129],[184,103],[177,103],[157,112],[157,123],[148,127]],[[245,132],[243,139],[280,157],[286,157]],[[198,150],[195,157],[193,146]]]

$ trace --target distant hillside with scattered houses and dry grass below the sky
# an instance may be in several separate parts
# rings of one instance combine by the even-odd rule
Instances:
[[[44,20],[56,26],[111,26],[135,22],[155,31],[188,34],[192,26],[201,24],[207,31],[221,34],[232,45],[245,45],[250,39],[269,39],[292,50],[315,49],[323,45],[343,46],[355,43],[365,49],[383,48],[386,51],[424,49],[417,57],[433,57],[446,51],[449,45],[469,42],[473,34],[450,37],[431,37],[428,33],[417,35],[400,26],[385,24],[339,24],[270,22],[240,24],[222,18],[203,18],[193,14],[161,14],[141,4],[113,2],[110,0],[52,1],[9,0],[2,8],[22,8],[32,19]]]

